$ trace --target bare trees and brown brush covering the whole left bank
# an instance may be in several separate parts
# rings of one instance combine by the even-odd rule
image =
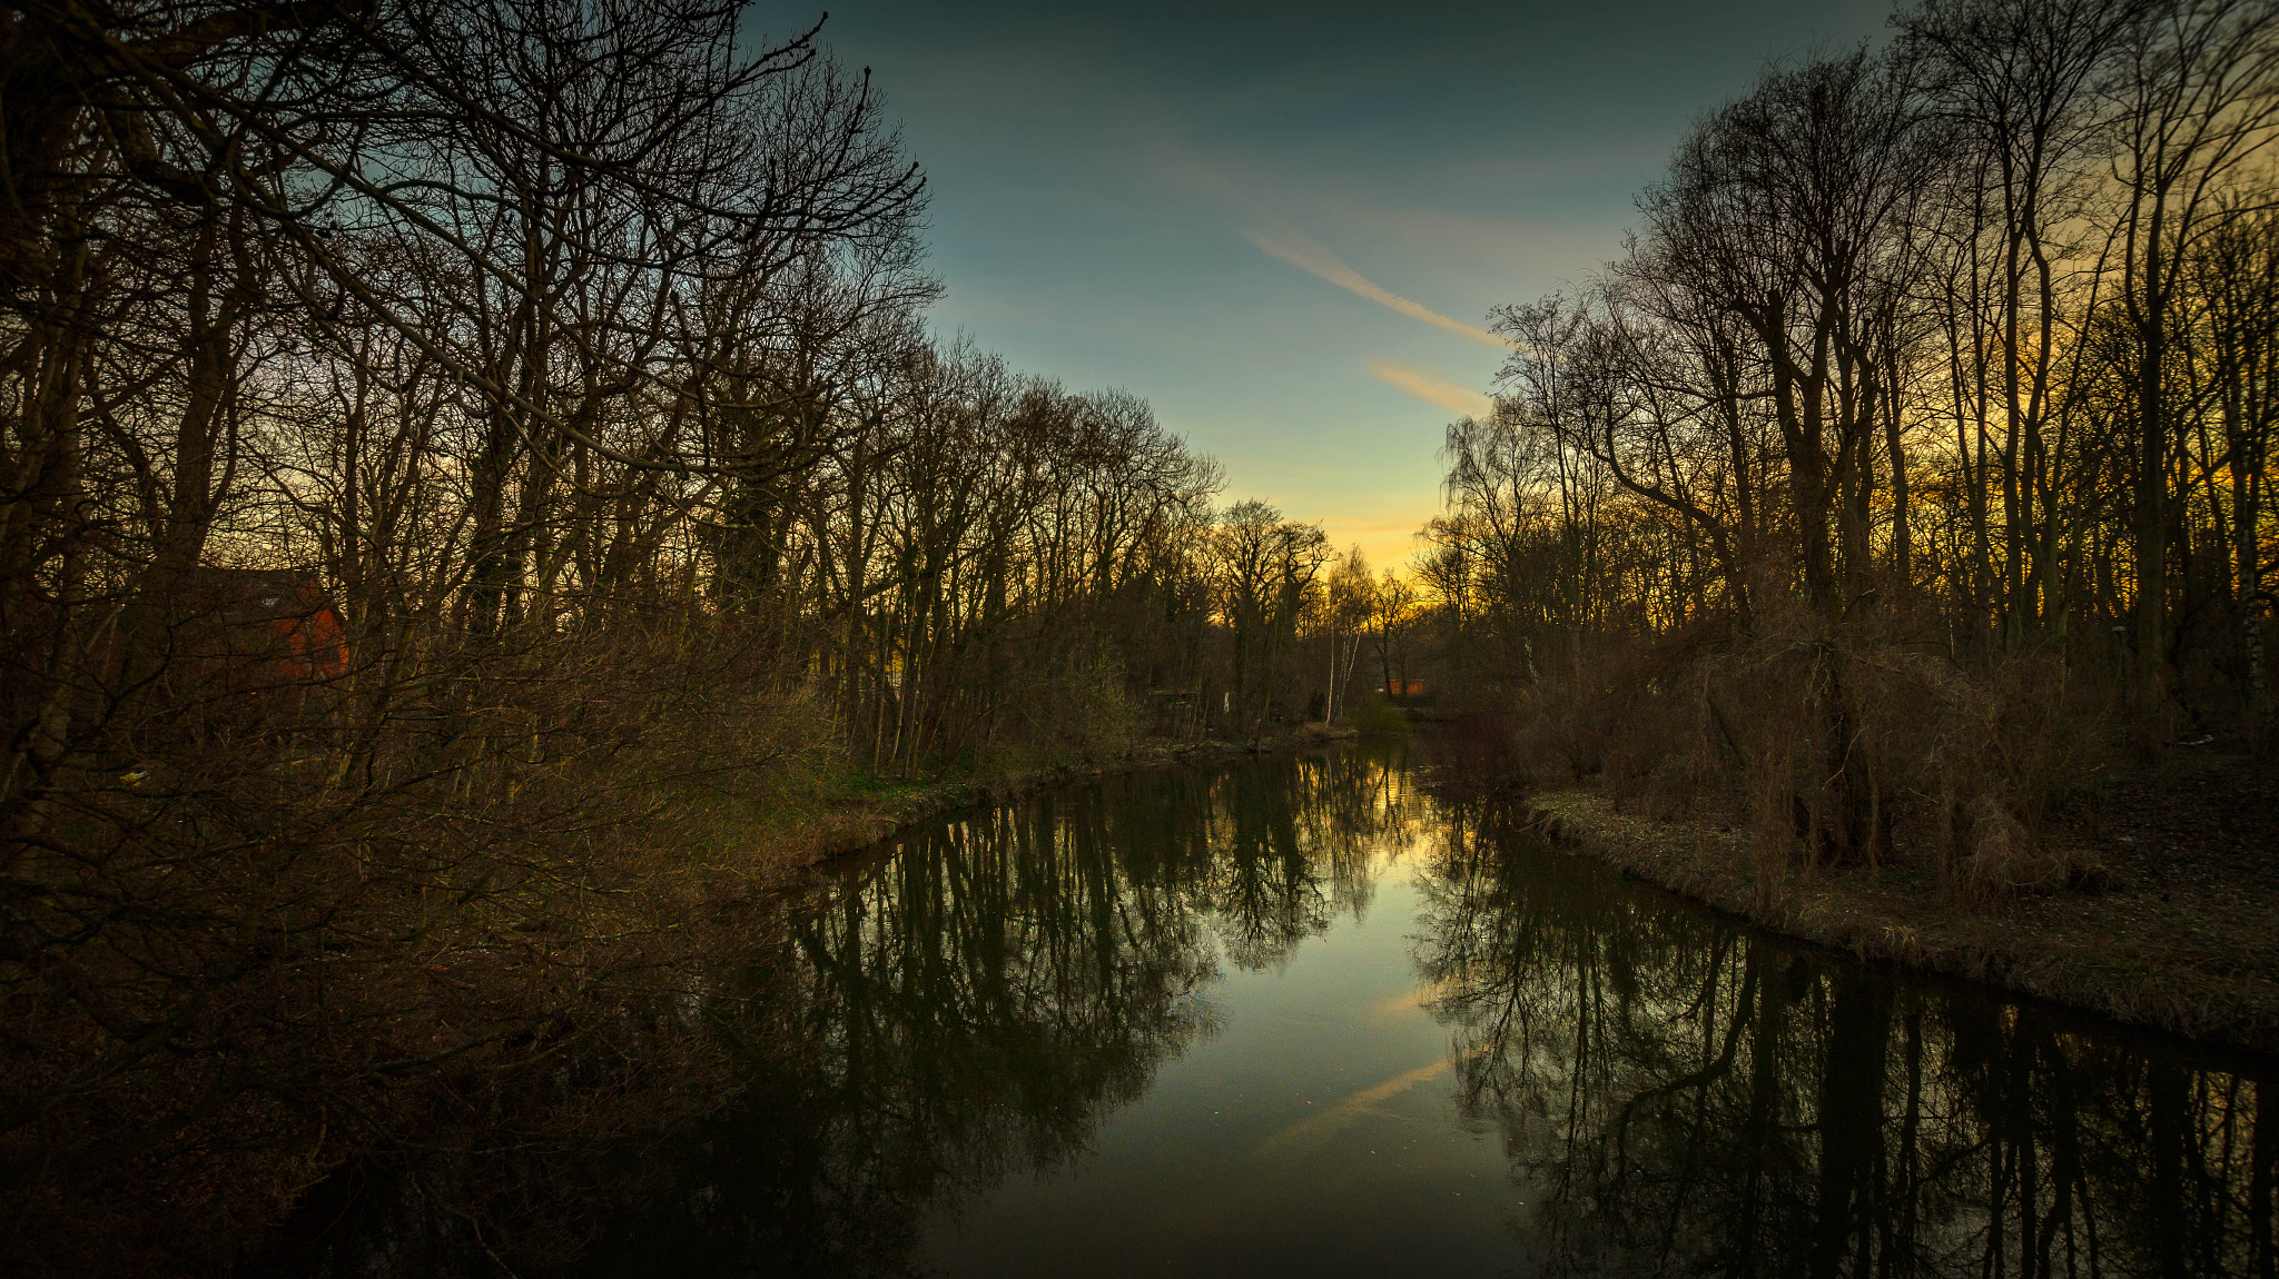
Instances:
[[[818,30],[30,5],[0,121],[11,1240],[210,1256],[570,1042],[688,1067],[608,1010],[848,778],[1326,703],[1320,530],[928,337]]]

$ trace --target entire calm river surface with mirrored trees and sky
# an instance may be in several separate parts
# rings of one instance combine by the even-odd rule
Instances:
[[[1402,753],[964,815],[791,913],[595,1270],[2272,1274],[2270,1063],[1769,940]]]

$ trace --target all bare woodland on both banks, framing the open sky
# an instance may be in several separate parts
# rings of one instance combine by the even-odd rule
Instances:
[[[595,1140],[818,806],[1418,678],[1766,858],[2031,881],[2069,769],[2272,733],[2274,86],[2252,0],[1769,73],[1497,314],[1404,576],[934,335],[820,27],[9,9],[0,1238],[221,1259],[572,1083],[499,1140]]]

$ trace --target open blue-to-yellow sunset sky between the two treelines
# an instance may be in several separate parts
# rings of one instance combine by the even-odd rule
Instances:
[[[1588,280],[1696,121],[1889,11],[850,0],[823,39],[928,173],[944,337],[1144,396],[1224,501],[1395,567],[1502,364],[1488,310]]]

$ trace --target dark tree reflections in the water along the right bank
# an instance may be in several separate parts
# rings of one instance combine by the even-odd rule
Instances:
[[[1547,1272],[2270,1277],[2270,1063],[1803,954],[1447,810],[1418,942]]]

